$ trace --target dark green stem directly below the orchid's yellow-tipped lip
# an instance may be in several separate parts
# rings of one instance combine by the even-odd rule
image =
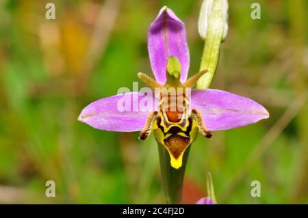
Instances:
[[[182,188],[185,174],[185,167],[190,152],[190,146],[183,155],[183,165],[179,169],[175,169],[170,165],[170,156],[168,150],[158,145],[160,170],[162,172],[162,185],[167,204],[181,204]]]

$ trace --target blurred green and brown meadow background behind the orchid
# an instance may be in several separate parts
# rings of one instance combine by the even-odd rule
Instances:
[[[185,22],[190,74],[203,41],[201,1],[0,1],[0,202],[164,203],[157,145],[138,133],[77,122],[94,100],[132,89],[151,74],[147,30],[164,5]],[[229,1],[229,33],[211,87],[257,100],[268,120],[199,135],[192,144],[183,202],[205,195],[211,172],[218,203],[308,203],[308,2]],[[141,83],[140,83],[141,84]],[[140,85],[141,87],[141,85]],[[45,182],[55,181],[55,197]],[[251,197],[251,182],[261,197]]]

